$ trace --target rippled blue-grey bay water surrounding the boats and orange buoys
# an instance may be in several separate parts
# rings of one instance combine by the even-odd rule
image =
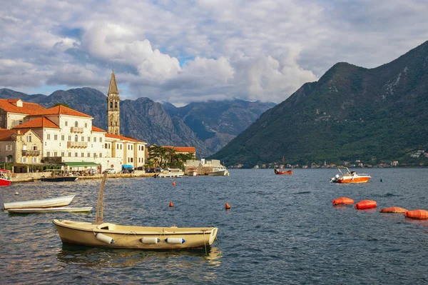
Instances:
[[[219,243],[208,256],[64,246],[51,220],[95,221],[95,212],[1,211],[0,284],[427,284],[428,221],[379,210],[428,209],[428,169],[356,170],[370,174],[369,183],[330,184],[336,169],[285,176],[231,170],[230,176],[176,179],[176,186],[172,179],[106,182],[104,221],[218,226]],[[100,182],[13,184],[0,189],[0,199],[76,194],[70,206],[95,209]],[[332,206],[340,196],[372,199],[378,207]]]

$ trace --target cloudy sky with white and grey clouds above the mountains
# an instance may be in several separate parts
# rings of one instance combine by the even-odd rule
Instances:
[[[426,0],[0,0],[0,88],[92,87],[183,106],[280,103],[340,61],[373,68],[428,40]]]

